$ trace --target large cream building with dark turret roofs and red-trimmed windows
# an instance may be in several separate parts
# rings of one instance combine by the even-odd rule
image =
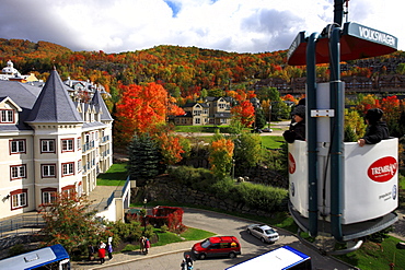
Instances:
[[[42,89],[0,80],[0,219],[56,192],[88,195],[113,163],[113,118],[100,92],[73,102],[56,70]]]

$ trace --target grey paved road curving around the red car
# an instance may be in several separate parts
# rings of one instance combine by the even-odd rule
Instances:
[[[287,244],[304,254],[310,255],[313,261],[313,269],[352,269],[347,265],[336,261],[329,257],[321,256],[315,250],[301,244],[296,236],[281,230],[278,231],[280,234],[280,239],[276,244],[263,244],[259,239],[246,233],[246,227],[252,222],[244,219],[199,209],[184,209],[183,223],[187,226],[202,228],[219,235],[234,235],[240,239],[242,246],[242,255],[238,256],[235,259],[218,258],[196,260],[194,263],[194,270],[223,270],[238,262],[244,261],[254,256],[264,254],[268,250]],[[184,253],[176,253],[154,257],[151,259],[137,260],[125,265],[111,266],[108,269],[177,270],[180,269],[180,263],[183,258]]]

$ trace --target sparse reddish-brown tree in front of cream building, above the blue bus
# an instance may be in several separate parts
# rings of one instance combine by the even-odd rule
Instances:
[[[96,211],[91,209],[91,201],[76,193],[55,192],[51,202],[39,204],[38,213],[45,221],[45,227],[39,231],[45,236],[44,246],[61,244],[71,253],[81,245],[112,236],[94,219]]]

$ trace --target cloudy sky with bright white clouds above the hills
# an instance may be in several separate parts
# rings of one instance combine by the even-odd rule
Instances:
[[[232,52],[288,49],[321,33],[334,0],[2,0],[0,38],[124,52],[159,45]],[[389,33],[405,50],[404,0],[350,0],[348,21]],[[346,22],[346,17],[344,19]]]

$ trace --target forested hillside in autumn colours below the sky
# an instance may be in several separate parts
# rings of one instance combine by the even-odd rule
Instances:
[[[258,80],[280,78],[290,81],[305,75],[304,67],[287,64],[287,50],[263,54],[236,54],[197,47],[158,46],[151,49],[105,54],[103,51],[72,51],[62,46],[23,39],[0,39],[0,64],[12,60],[21,73],[34,72],[46,80],[55,66],[62,80],[90,80],[103,84],[118,102],[119,84],[157,82],[177,97],[178,104],[196,99],[201,91],[220,95],[225,90],[248,87]],[[403,51],[381,57],[404,58]],[[356,62],[346,74],[371,75],[370,68]],[[396,72],[396,70],[391,71]],[[327,77],[326,66],[319,67],[319,77]]]

